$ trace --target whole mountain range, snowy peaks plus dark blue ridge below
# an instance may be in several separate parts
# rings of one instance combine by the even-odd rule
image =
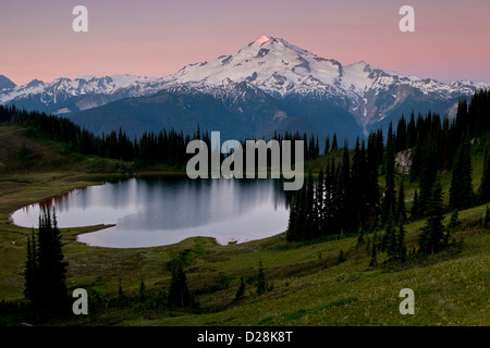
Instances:
[[[84,76],[15,86],[0,75],[0,103],[62,114],[97,134],[193,132],[199,123],[233,138],[301,130],[352,139],[412,111],[453,116],[458,98],[489,87],[403,76],[364,62],[344,66],[262,36],[233,55],[159,78]]]

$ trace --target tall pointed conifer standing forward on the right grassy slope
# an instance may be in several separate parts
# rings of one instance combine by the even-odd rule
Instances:
[[[420,252],[432,254],[442,249],[444,238],[443,219],[442,187],[439,179],[437,179],[432,188],[432,195],[427,202],[427,223],[418,239]]]

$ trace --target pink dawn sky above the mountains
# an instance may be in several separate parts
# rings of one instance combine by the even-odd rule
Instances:
[[[72,30],[84,4],[89,32]],[[416,32],[399,30],[411,4]],[[0,3],[0,75],[16,84],[81,75],[164,76],[262,36],[351,64],[443,82],[490,82],[488,0],[19,0]]]

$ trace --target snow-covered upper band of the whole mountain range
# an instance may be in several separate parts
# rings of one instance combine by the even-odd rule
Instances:
[[[477,88],[490,86],[470,82],[440,84],[384,71],[365,61],[342,65],[282,38],[266,35],[234,54],[188,64],[177,73],[161,78],[86,76],[87,80],[58,78],[50,84],[33,80],[17,87],[8,80],[5,85],[3,79],[2,88],[1,77],[0,103],[30,104],[49,112],[58,112],[65,105],[74,108],[74,111],[89,109],[120,98],[150,96],[170,88],[197,90],[215,98],[225,98],[223,96],[229,94],[236,100],[243,100],[243,86],[246,85],[272,98],[291,97],[291,100],[296,100],[305,97],[332,102],[335,108],[344,108],[363,125],[383,120],[397,111],[406,113],[406,110],[414,109],[407,99],[409,96],[426,96],[427,100],[432,98],[446,103],[458,96],[470,95]],[[73,101],[68,102],[73,97],[79,98],[75,107]]]

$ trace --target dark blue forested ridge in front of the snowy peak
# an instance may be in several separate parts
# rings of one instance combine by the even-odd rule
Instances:
[[[193,133],[198,124],[203,129],[219,130],[226,138],[269,137],[274,130],[313,133],[315,129],[289,115],[272,97],[246,83],[230,82],[215,88],[213,94],[174,87],[150,97],[114,101],[69,117],[99,135],[118,125],[131,137],[162,128]],[[355,123],[353,125],[355,127]]]

